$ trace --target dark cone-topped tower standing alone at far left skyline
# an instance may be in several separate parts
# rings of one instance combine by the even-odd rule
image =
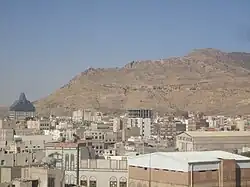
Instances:
[[[13,120],[24,120],[27,117],[34,117],[36,108],[26,99],[24,93],[21,93],[19,99],[16,100],[9,108],[9,118]]]

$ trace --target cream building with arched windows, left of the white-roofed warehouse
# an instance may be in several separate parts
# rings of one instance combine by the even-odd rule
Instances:
[[[88,187],[125,187],[127,184],[127,161],[94,159],[92,147],[87,142],[47,143],[46,156],[56,159],[56,167],[65,169],[64,181],[67,185]],[[89,147],[89,148],[88,148]],[[79,163],[79,165],[78,165]]]

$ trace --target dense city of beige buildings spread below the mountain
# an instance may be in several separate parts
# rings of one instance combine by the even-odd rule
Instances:
[[[1,186],[247,184],[249,122],[250,116],[159,116],[151,109],[38,117],[21,93],[0,120]]]

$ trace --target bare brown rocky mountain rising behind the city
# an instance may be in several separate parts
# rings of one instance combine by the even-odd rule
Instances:
[[[122,68],[89,68],[34,104],[43,114],[142,107],[246,114],[250,111],[249,78],[250,53],[196,49],[183,57],[133,61]]]

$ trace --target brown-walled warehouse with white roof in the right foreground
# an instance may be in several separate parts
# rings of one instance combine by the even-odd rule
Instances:
[[[129,187],[250,185],[250,158],[224,151],[156,152],[129,158]]]

